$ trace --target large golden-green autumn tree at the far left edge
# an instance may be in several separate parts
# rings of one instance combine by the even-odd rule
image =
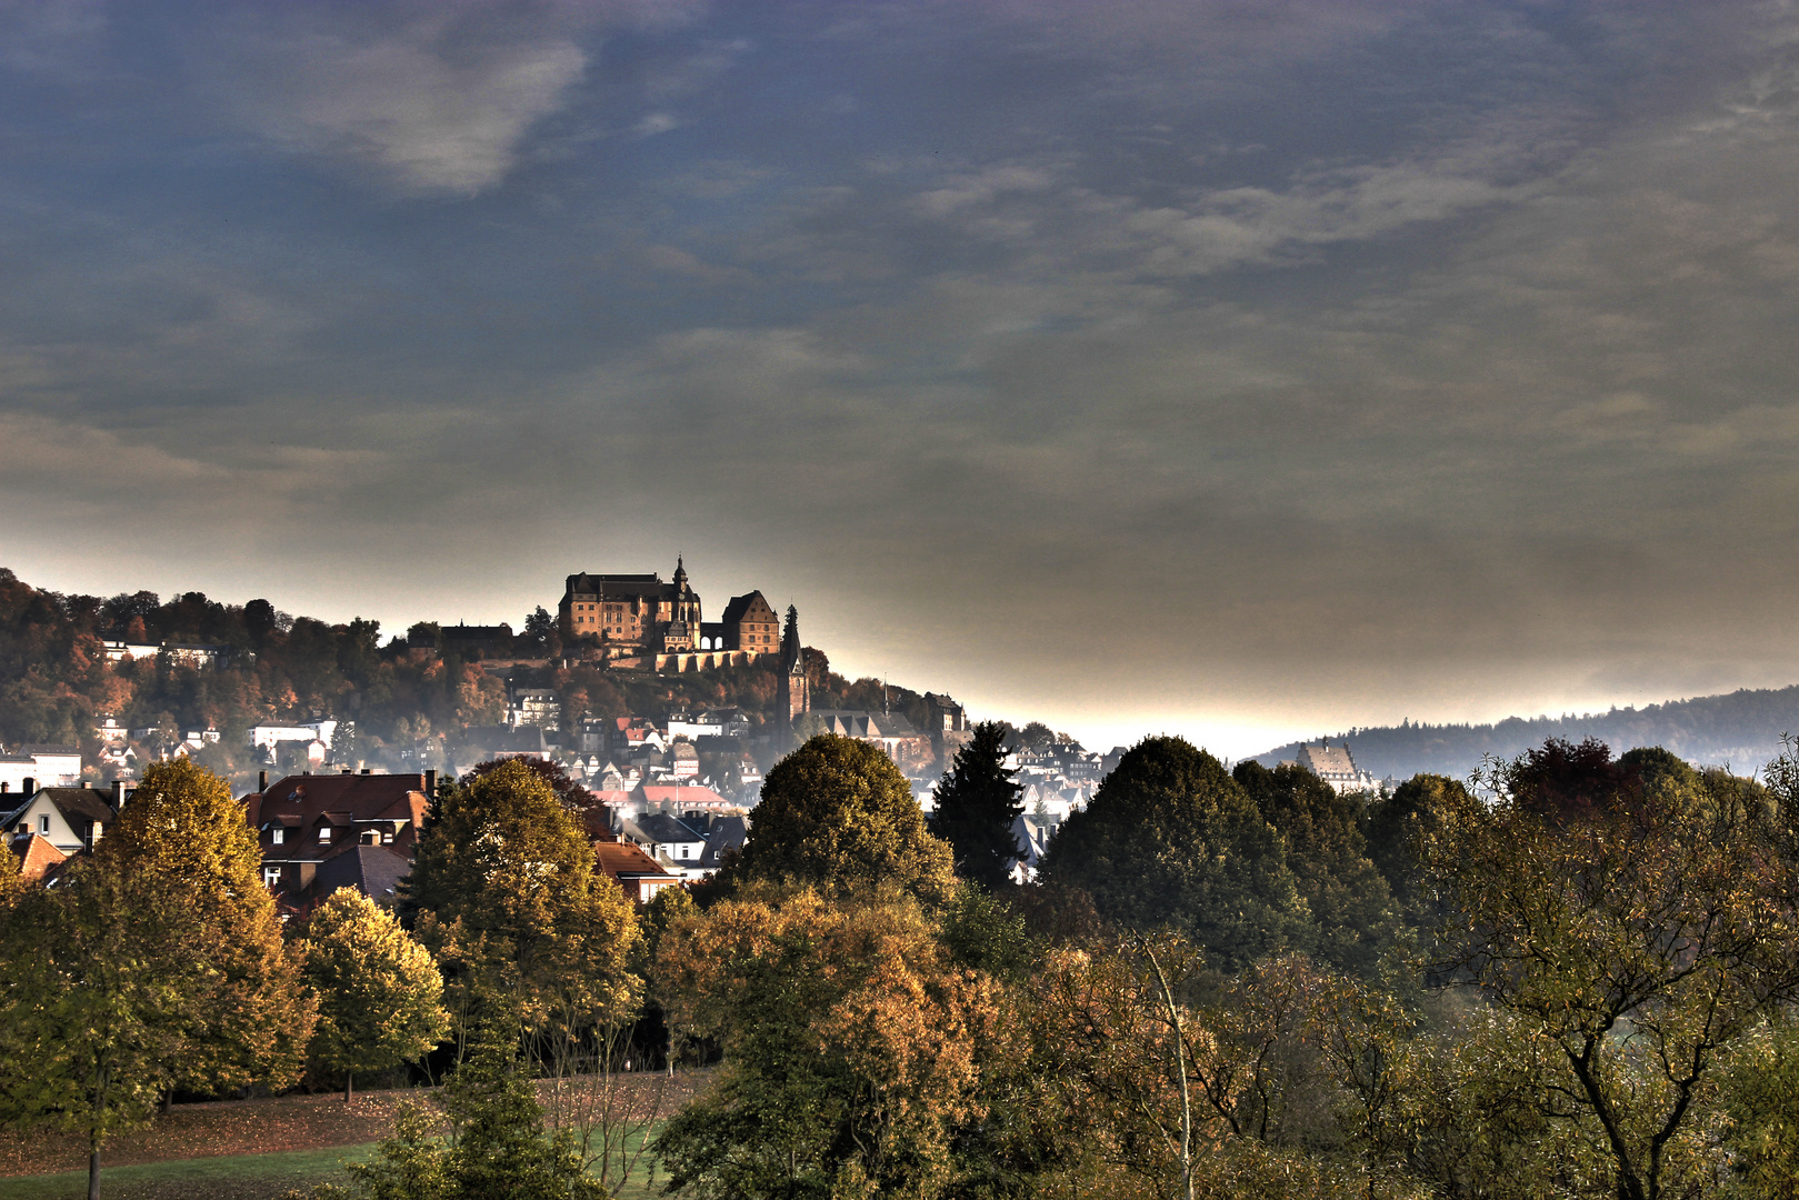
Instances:
[[[169,1090],[299,1078],[313,1000],[259,867],[225,783],[175,759],[63,883],[9,909],[0,1087],[16,1117],[86,1137],[90,1196],[106,1139]]]

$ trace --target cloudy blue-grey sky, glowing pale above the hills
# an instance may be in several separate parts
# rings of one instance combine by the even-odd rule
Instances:
[[[0,565],[1088,745],[1799,682],[1799,9],[0,0]]]

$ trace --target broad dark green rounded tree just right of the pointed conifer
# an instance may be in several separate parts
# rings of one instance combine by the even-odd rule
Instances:
[[[1090,892],[1103,918],[1173,927],[1231,968],[1306,934],[1281,835],[1218,759],[1182,738],[1132,747],[1061,824],[1040,873]]]

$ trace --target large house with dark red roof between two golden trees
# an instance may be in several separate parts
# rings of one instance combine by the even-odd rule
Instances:
[[[383,847],[410,864],[435,792],[437,772],[430,770],[405,775],[345,772],[288,775],[239,802],[263,849],[263,882],[275,901],[295,914],[329,894],[315,887],[322,873],[327,882],[345,880],[349,887],[387,887],[394,869],[387,860],[362,855],[356,862],[333,864],[329,873],[326,864],[356,847]],[[405,871],[398,878],[405,878]]]

